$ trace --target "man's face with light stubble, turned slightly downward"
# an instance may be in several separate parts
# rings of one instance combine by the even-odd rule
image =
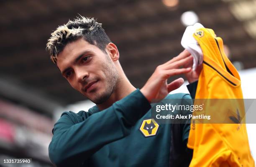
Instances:
[[[108,100],[119,80],[110,56],[83,38],[64,47],[57,66],[69,84],[95,104]]]

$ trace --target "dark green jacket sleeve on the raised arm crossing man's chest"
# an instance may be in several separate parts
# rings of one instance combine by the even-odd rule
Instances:
[[[64,112],[54,125],[49,145],[50,160],[57,167],[80,165],[104,145],[127,136],[150,108],[140,90],[135,90],[79,123]]]

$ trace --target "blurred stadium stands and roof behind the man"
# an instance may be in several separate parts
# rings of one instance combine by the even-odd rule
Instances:
[[[183,50],[186,26],[200,22],[223,38],[244,98],[256,99],[255,9],[256,0],[0,0],[0,160],[32,158],[32,165],[0,166],[52,167],[54,122],[64,111],[93,105],[61,77],[45,50],[57,25],[78,14],[97,18],[118,46],[128,79],[141,88],[157,65]],[[175,92],[187,92],[185,84]],[[248,125],[254,157],[255,127]]]

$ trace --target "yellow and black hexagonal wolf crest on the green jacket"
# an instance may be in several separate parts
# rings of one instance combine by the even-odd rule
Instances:
[[[154,136],[158,131],[159,125],[152,119],[143,120],[140,131],[145,137]]]

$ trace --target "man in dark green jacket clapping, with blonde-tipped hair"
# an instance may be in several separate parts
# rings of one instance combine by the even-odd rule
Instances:
[[[189,52],[159,65],[139,90],[125,76],[118,48],[93,18],[81,16],[59,26],[47,49],[69,84],[96,104],[89,112],[64,112],[54,125],[49,157],[57,167],[189,165],[188,124],[161,124],[155,134],[153,126],[145,125],[149,137],[139,130],[142,122],[153,122],[152,100],[164,99],[184,82],[179,78],[167,84],[169,77],[184,73],[190,83],[198,79],[200,70],[189,67],[193,59]],[[180,103],[191,98],[182,93],[168,97]]]

